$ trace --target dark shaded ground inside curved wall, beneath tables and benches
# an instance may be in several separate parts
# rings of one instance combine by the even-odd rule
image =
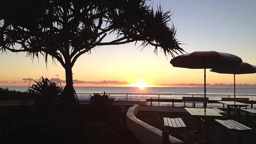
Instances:
[[[241,113],[242,114],[242,113]],[[231,115],[232,116],[232,115]],[[244,116],[244,114],[243,114]],[[204,140],[204,134],[191,134],[187,135],[188,132],[196,130],[196,118],[192,117],[186,112],[152,112],[152,111],[139,111],[137,117],[143,122],[150,124],[162,131],[169,130],[164,126],[163,117],[176,118],[180,117],[186,124],[187,128],[177,129],[181,133],[180,136],[173,135],[178,139],[184,140],[186,144],[193,144]],[[235,116],[233,115],[233,118]],[[242,120],[242,124],[251,127],[253,130],[244,133],[244,143],[255,144],[256,143],[256,116],[252,115]],[[201,130],[204,131],[204,122],[201,121]],[[212,123],[210,125],[210,140],[218,144],[231,144],[236,142],[236,133],[228,131],[232,134],[232,137],[217,136],[218,133],[222,132],[222,126],[218,123]]]

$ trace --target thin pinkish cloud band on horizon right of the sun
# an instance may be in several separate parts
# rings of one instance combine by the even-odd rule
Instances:
[[[185,83],[180,83],[180,84],[155,84],[159,86],[167,86],[167,87],[204,87],[204,84],[185,84]],[[212,88],[233,88],[234,84],[206,84],[206,87],[212,87]],[[236,84],[236,88],[256,88],[256,84]]]

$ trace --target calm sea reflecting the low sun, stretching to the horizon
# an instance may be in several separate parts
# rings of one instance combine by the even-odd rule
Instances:
[[[0,86],[6,88],[6,86]],[[8,86],[10,90],[16,90],[24,92],[28,89],[27,86]],[[88,100],[89,94],[84,93],[124,93],[124,94],[110,94],[112,97],[116,97],[116,100],[126,100],[126,93],[128,94],[128,100],[146,100],[146,99],[158,99],[158,94],[160,99],[182,99],[184,96],[204,97],[204,88],[173,88],[173,87],[146,87],[145,89],[140,89],[137,87],[74,87],[78,99]],[[207,97],[209,100],[221,100],[221,97],[234,97],[233,88],[207,88]],[[133,93],[133,94],[132,94]],[[137,94],[134,94],[137,93]],[[146,94],[150,93],[150,94]],[[181,94],[181,95],[180,95]],[[186,95],[189,94],[189,95]],[[200,95],[201,94],[201,95]],[[219,94],[225,96],[218,96]],[[244,96],[238,96],[244,95]],[[255,96],[253,96],[255,95]],[[256,100],[256,89],[253,88],[237,88],[236,98],[250,98],[250,100]],[[153,102],[153,105],[158,105],[158,102]],[[160,102],[160,105],[171,106],[172,103]],[[175,103],[175,106],[183,106],[183,103]],[[190,106],[190,104],[187,104]],[[202,106],[201,104],[196,104],[197,106]],[[219,107],[221,104],[208,104],[208,107]]]

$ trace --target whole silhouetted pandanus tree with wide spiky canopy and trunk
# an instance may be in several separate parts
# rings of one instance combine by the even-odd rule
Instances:
[[[147,0],[8,0],[0,3],[0,51],[27,52],[60,62],[66,86],[59,104],[78,106],[72,67],[77,58],[102,45],[140,42],[167,56],[183,53],[170,11]],[[107,35],[114,40],[106,41]]]

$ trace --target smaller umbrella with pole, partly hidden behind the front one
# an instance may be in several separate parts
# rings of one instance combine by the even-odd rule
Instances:
[[[234,101],[236,102],[236,75],[254,74],[256,73],[256,66],[242,62],[239,66],[236,67],[212,68],[210,71],[220,74],[234,74]]]

